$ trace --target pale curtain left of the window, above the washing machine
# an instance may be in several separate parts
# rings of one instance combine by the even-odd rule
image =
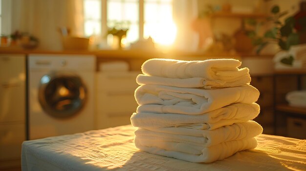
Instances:
[[[12,33],[27,32],[39,39],[39,49],[62,50],[59,28],[84,35],[83,0],[14,0]]]

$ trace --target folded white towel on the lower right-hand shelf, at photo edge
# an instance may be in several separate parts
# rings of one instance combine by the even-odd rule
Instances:
[[[306,107],[306,90],[292,91],[286,94],[290,106]]]

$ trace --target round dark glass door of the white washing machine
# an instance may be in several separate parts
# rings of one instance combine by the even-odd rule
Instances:
[[[71,73],[51,73],[42,76],[39,102],[43,110],[59,118],[78,114],[85,105],[87,89],[81,77]]]

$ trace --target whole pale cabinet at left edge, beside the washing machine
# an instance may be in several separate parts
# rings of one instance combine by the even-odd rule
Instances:
[[[25,55],[0,54],[0,169],[20,165],[25,140]]]

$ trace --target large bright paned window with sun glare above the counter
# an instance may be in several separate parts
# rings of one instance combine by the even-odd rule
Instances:
[[[172,1],[84,0],[85,36],[96,35],[103,39],[110,28],[128,29],[127,45],[149,37],[157,45],[171,45],[176,35]]]

